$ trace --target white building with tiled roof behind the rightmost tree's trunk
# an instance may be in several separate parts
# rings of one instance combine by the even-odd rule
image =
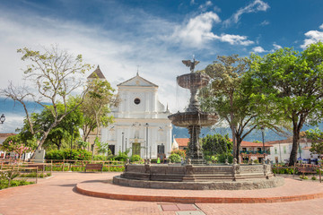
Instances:
[[[292,137],[282,141],[266,142],[273,147],[270,148],[270,159],[274,163],[287,163],[292,151]],[[310,152],[311,142],[306,138],[300,139],[299,150],[297,151],[297,160],[303,163],[316,163],[319,155]],[[300,149],[301,148],[301,149]]]

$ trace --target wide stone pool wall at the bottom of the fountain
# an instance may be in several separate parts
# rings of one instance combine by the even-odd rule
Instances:
[[[174,164],[127,164],[113,184],[145,188],[188,190],[260,189],[284,185],[270,165],[193,166]]]

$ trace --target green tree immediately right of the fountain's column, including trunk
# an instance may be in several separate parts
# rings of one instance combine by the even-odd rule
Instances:
[[[249,59],[238,55],[217,58],[203,71],[211,77],[211,82],[200,91],[199,97],[203,110],[217,113],[230,125],[233,156],[238,159],[240,142],[257,127],[249,95],[241,88],[243,75],[249,70]]]

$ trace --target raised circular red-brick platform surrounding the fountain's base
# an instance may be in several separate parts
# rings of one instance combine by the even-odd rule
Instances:
[[[260,190],[167,190],[113,185],[111,180],[84,181],[75,186],[77,193],[94,197],[182,203],[264,203],[293,202],[323,198],[323,185],[285,179],[283,186]]]

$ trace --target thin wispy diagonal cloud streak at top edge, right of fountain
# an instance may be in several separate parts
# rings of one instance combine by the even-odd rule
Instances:
[[[253,3],[248,4],[247,6],[240,8],[236,13],[234,13],[233,15],[231,15],[231,18],[229,18],[228,20],[224,21],[223,23],[225,25],[229,25],[232,22],[233,23],[237,23],[240,21],[240,17],[242,16],[243,13],[257,13],[259,11],[264,11],[266,12],[266,10],[269,8],[269,5],[266,4],[265,2],[261,1],[261,0],[255,0]]]

